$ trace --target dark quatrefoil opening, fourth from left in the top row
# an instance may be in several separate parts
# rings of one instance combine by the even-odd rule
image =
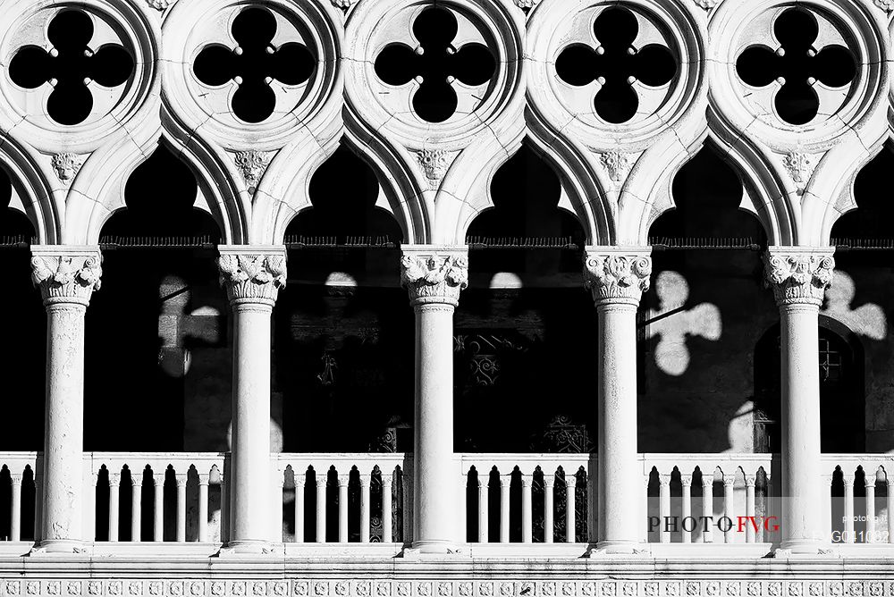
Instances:
[[[565,46],[556,58],[556,73],[570,86],[595,89],[593,105],[603,121],[629,122],[640,109],[640,93],[663,95],[670,86],[677,60],[667,46],[649,41],[637,46],[637,39],[648,37],[627,8],[605,9],[593,32],[597,45]]]

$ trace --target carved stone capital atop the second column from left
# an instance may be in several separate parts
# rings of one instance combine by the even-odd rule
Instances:
[[[222,245],[219,250],[220,282],[230,302],[272,307],[285,286],[285,247]]]

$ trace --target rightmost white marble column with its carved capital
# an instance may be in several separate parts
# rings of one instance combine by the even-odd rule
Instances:
[[[817,554],[824,536],[820,460],[819,309],[831,286],[831,248],[771,247],[766,282],[780,307],[782,542],[778,556]]]

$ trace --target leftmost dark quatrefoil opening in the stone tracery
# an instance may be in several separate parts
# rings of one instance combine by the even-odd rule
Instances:
[[[9,76],[21,88],[35,89],[49,83],[46,112],[64,125],[86,121],[94,108],[91,87],[105,95],[124,85],[134,71],[131,54],[122,46],[105,44],[90,47],[94,24],[89,14],[64,10],[46,28],[47,51],[24,46],[9,64]]]

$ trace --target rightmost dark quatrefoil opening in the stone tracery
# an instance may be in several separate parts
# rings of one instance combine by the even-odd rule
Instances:
[[[773,98],[776,114],[789,124],[806,124],[820,113],[822,87],[848,91],[856,77],[855,56],[837,44],[817,48],[819,26],[814,15],[802,8],[781,13],[773,23],[773,34],[779,46],[747,48],[738,57],[736,71],[755,88],[775,81],[779,85]]]

